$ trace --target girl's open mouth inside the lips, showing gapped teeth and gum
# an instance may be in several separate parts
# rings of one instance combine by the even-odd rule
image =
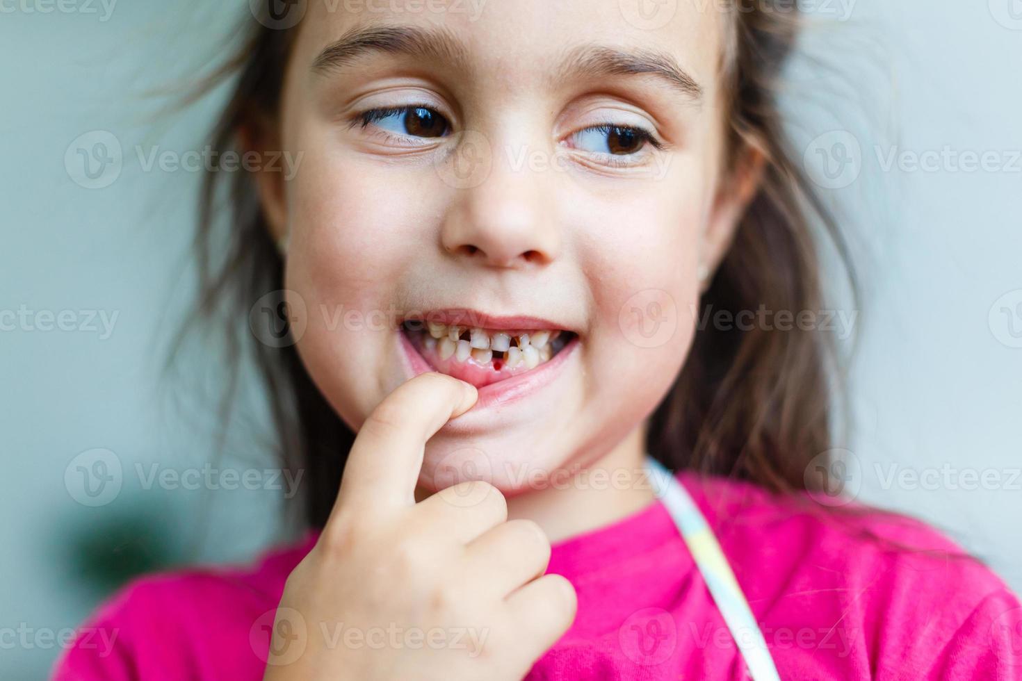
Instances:
[[[435,371],[477,388],[543,367],[577,335],[562,329],[483,329],[406,320],[402,333]]]

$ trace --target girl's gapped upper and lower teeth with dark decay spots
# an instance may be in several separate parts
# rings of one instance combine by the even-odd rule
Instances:
[[[560,331],[531,331],[512,335],[505,331],[490,334],[484,329],[468,329],[456,324],[446,325],[429,322],[426,347],[439,354],[440,359],[454,356],[465,361],[471,356],[479,363],[492,361],[494,353],[504,353],[509,369],[524,362],[533,369],[553,356],[551,341],[560,336]],[[467,332],[467,338],[462,338]]]

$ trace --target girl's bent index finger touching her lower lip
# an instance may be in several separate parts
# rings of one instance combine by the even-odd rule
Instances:
[[[355,438],[334,514],[347,504],[414,504],[426,440],[477,396],[468,383],[436,373],[420,374],[387,395]]]

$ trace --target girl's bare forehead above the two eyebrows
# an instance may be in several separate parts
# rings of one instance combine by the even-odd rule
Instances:
[[[651,55],[657,64],[676,63],[709,95],[728,20],[722,5],[705,0],[310,0],[292,65],[314,68],[324,50],[359,30],[409,27],[443,33],[455,51],[437,55],[436,61],[461,78],[504,87],[550,83],[570,57],[591,54],[598,46]]]

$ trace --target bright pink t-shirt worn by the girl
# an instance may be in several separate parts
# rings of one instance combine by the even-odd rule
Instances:
[[[735,481],[680,479],[782,679],[1022,679],[1018,599],[934,531],[879,513],[831,518]],[[284,580],[315,541],[249,568],[134,582],[84,625],[56,678],[261,679]],[[556,544],[549,572],[574,584],[578,614],[528,679],[747,678],[661,503]]]

